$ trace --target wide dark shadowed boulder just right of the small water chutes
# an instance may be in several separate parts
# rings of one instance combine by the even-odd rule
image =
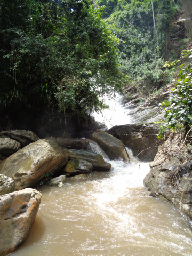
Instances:
[[[158,131],[158,124],[126,124],[114,126],[108,133],[121,140],[141,161],[153,161],[162,143],[157,138]]]

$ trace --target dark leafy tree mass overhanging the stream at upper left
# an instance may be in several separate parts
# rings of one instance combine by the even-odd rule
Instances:
[[[121,87],[117,38],[88,0],[0,0],[1,111],[19,102],[85,116]]]

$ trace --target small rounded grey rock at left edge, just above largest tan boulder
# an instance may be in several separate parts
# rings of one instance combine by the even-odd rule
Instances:
[[[0,154],[4,157],[8,157],[21,147],[21,144],[10,138],[1,138],[0,137]]]

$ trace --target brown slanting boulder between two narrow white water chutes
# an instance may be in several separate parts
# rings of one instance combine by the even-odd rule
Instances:
[[[128,161],[128,157],[121,140],[99,129],[89,137],[99,144],[110,159],[118,159],[122,157],[124,161]]]

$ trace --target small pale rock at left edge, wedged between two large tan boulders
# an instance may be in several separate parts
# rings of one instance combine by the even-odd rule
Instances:
[[[0,174],[0,196],[15,191],[14,180],[3,174]]]

